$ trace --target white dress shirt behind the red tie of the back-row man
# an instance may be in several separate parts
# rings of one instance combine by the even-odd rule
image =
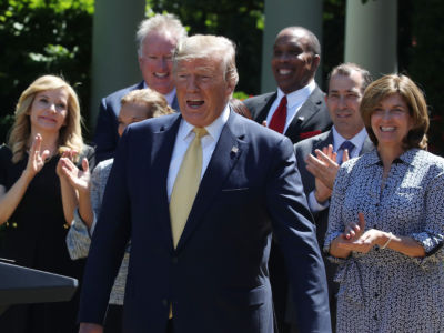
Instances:
[[[286,94],[286,120],[284,133],[287,130],[289,125],[293,121],[294,117],[296,117],[297,111],[305,103],[309,97],[312,94],[314,89],[316,88],[316,83],[312,80],[309,84],[300,90],[293,91]],[[274,111],[276,111],[279,104],[281,103],[281,99],[285,95],[281,89],[278,88],[278,97],[274,102],[271,104],[269,114],[266,115],[266,124],[270,125],[271,119],[273,118]]]

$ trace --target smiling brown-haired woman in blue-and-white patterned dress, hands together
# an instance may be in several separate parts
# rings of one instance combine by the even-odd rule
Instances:
[[[340,264],[337,332],[443,332],[444,159],[425,151],[424,95],[385,75],[361,115],[376,149],[340,169],[324,244]]]

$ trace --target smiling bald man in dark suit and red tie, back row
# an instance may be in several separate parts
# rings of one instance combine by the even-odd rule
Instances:
[[[289,27],[276,37],[271,67],[278,91],[244,101],[253,119],[280,133],[293,143],[327,131],[332,121],[324,93],[314,82],[321,60],[321,46],[314,33],[302,27]],[[281,333],[285,324],[287,273],[282,250],[273,240],[270,259],[276,323]]]

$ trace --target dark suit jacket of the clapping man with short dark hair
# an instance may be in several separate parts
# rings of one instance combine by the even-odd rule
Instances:
[[[304,186],[305,195],[309,198],[310,192],[315,189],[314,176],[306,170],[305,159],[309,154],[314,154],[316,149],[322,150],[322,148],[333,144],[333,132],[330,130],[320,135],[303,140],[294,144],[294,152],[296,154],[297,169],[301,174],[302,184]],[[374,148],[372,141],[366,138],[364,144],[360,151],[360,155],[371,151]],[[325,233],[329,223],[329,209],[313,213],[314,222],[316,224],[316,238],[320,248],[324,245]],[[323,255],[324,256],[324,255]],[[324,263],[327,275],[329,293],[331,305],[334,304],[334,297],[337,293],[337,283],[333,282],[333,278],[336,271],[336,265],[331,263],[326,256],[324,256]],[[332,306],[331,306],[332,307]],[[292,317],[292,316],[291,316]]]

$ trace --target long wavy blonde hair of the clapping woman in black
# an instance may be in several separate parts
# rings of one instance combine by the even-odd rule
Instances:
[[[67,149],[80,152],[83,149],[79,99],[75,91],[63,79],[43,75],[33,81],[20,95],[16,107],[14,123],[8,139],[12,150],[12,162],[24,157],[29,137],[31,135],[30,111],[36,95],[41,91],[64,89],[68,92],[68,117],[65,125],[59,131],[59,152]]]

